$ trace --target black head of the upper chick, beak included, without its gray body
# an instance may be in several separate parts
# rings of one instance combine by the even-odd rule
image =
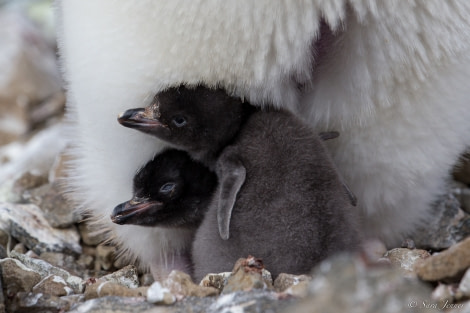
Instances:
[[[187,151],[213,169],[217,156],[254,110],[223,89],[182,85],[157,93],[146,108],[121,113],[118,121]]]

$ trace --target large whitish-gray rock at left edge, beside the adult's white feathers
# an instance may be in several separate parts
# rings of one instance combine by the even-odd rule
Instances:
[[[81,253],[82,250],[75,228],[51,227],[34,204],[0,203],[0,229],[37,254],[50,251]]]

